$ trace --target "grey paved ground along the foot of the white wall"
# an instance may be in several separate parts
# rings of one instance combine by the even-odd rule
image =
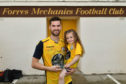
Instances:
[[[110,74],[120,84],[126,84],[126,74]],[[104,75],[84,75],[76,72],[72,76],[73,84],[116,84],[106,74]],[[10,84],[10,83],[0,83]],[[15,84],[45,84],[45,76],[23,76]]]

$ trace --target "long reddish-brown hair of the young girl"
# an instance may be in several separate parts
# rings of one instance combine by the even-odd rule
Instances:
[[[79,38],[77,32],[76,32],[75,30],[73,30],[73,29],[67,30],[67,31],[65,31],[65,33],[64,33],[64,42],[65,42],[65,46],[68,45],[66,35],[67,35],[68,33],[71,33],[71,32],[73,33],[73,36],[74,36],[74,39],[75,39],[75,47],[76,47],[76,44],[77,44],[77,42],[78,42],[78,43],[81,45],[82,51],[83,51],[83,46],[82,46],[82,43],[81,43],[81,41],[80,41],[80,38]]]

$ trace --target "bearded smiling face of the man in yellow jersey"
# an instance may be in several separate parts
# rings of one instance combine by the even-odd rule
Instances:
[[[61,31],[60,21],[52,21],[50,25],[50,30],[53,36],[59,36],[60,31]]]

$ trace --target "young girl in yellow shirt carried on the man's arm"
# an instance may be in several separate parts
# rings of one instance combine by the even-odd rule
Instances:
[[[83,53],[82,44],[77,33],[70,29],[64,33],[64,41],[67,47],[67,55],[65,57],[66,64],[65,69],[63,69],[59,76],[59,84],[64,84],[64,78],[66,72],[71,68],[76,68],[79,62],[79,58]]]

